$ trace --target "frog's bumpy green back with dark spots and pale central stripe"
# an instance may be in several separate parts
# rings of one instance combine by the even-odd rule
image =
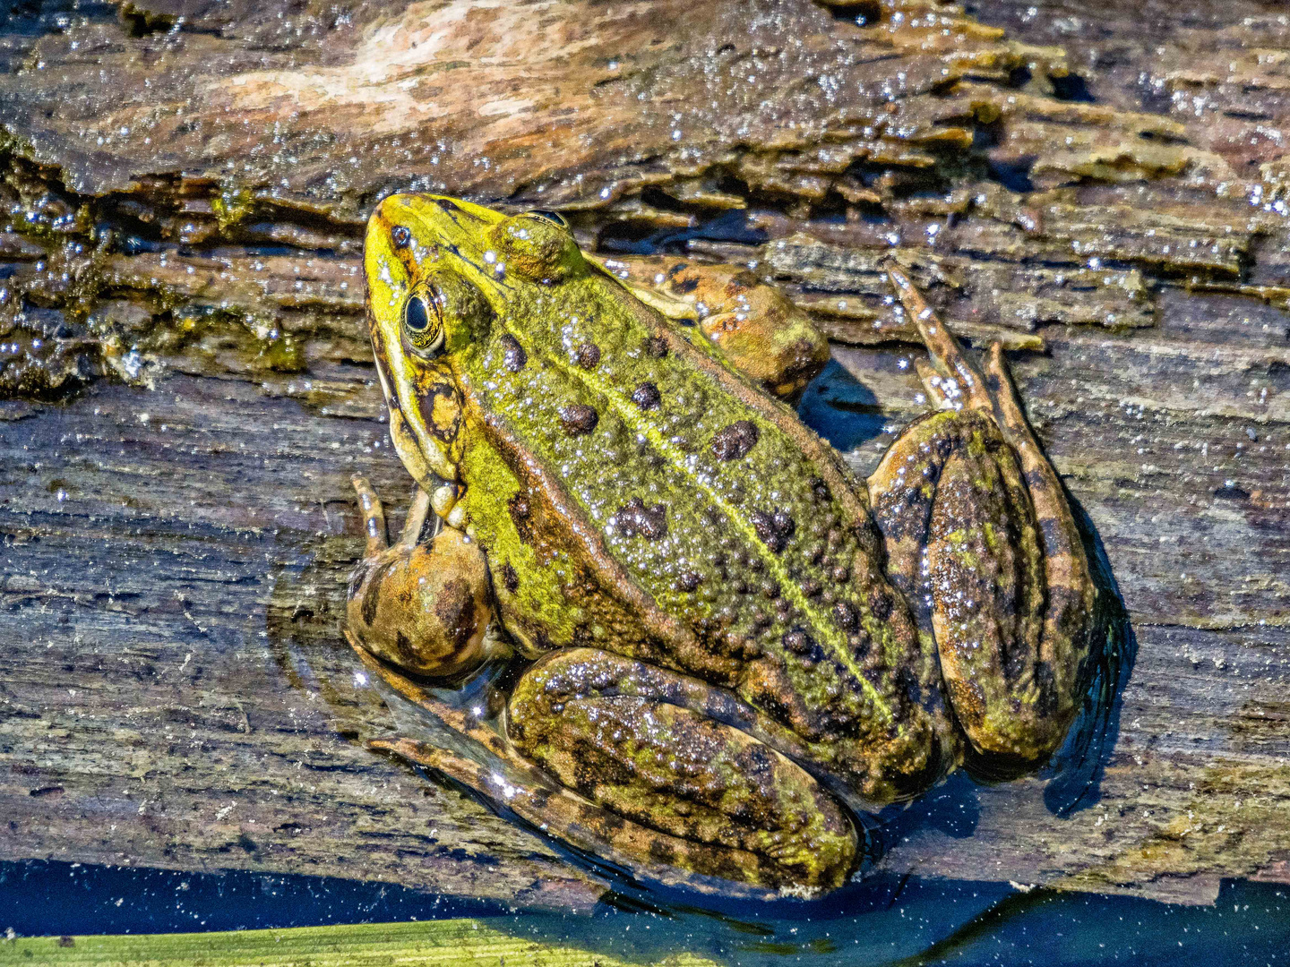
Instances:
[[[495,320],[459,387],[524,512],[541,503],[580,544],[565,592],[595,585],[645,633],[592,614],[541,637],[726,686],[875,799],[934,779],[949,734],[935,659],[836,454],[611,280],[560,289]],[[513,494],[494,499],[515,518]]]

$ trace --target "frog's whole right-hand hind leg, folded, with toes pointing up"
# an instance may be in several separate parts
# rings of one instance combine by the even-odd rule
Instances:
[[[888,571],[935,636],[982,765],[1032,765],[1060,745],[1081,701],[1095,600],[1084,544],[998,344],[982,374],[908,278],[889,273],[943,409],[911,424],[869,477]]]

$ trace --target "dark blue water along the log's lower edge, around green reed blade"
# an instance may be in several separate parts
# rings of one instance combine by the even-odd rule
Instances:
[[[877,877],[837,900],[713,913],[623,895],[590,915],[515,913],[324,877],[0,864],[0,931],[152,933],[481,917],[501,931],[654,963],[1290,963],[1290,887],[1224,882],[1214,906]]]

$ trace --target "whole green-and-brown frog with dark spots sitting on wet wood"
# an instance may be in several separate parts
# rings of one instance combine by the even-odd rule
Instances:
[[[894,264],[938,407],[862,481],[764,388],[818,366],[809,324],[724,352],[667,312],[684,260],[654,300],[553,213],[396,195],[365,262],[418,493],[387,548],[356,481],[348,634],[454,739],[378,745],[635,873],[796,895],[855,872],[853,815],[1060,745],[1090,651],[1080,535],[998,347],[982,373]],[[726,271],[708,315],[757,285]],[[740,371],[777,352],[795,371]],[[453,700],[503,654],[493,705]]]

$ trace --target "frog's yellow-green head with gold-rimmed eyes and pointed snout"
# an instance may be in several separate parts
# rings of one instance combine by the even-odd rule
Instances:
[[[439,195],[391,195],[368,220],[368,325],[390,435],[418,481],[457,478],[463,441],[454,361],[497,320],[519,325],[542,290],[588,271],[565,220],[506,215]]]

